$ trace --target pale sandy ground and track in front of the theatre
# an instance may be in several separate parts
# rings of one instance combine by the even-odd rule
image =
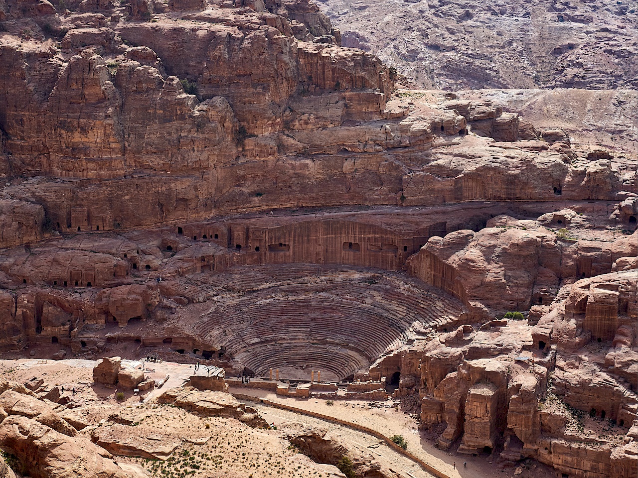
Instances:
[[[336,433],[349,447],[371,454],[383,468],[390,468],[404,478],[431,477],[429,473],[422,470],[420,465],[390,449],[372,435],[304,414],[276,409],[259,403],[262,398],[361,424],[380,431],[387,437],[395,434],[402,435],[411,453],[450,477],[491,478],[514,474],[512,468],[505,471],[498,470],[485,457],[456,456],[437,449],[420,433],[415,414],[410,414],[410,410],[406,413],[390,406],[371,408],[368,402],[363,401],[336,400],[334,405],[328,405],[326,400],[316,398],[285,398],[260,389],[231,389],[231,393],[255,397],[256,402],[250,402],[249,405],[257,407],[269,423],[274,423],[278,427],[278,430],[254,430],[233,419],[202,419],[175,407],[158,405],[152,400],[167,388],[184,384],[184,380],[193,372],[193,365],[124,360],[122,366],[144,369],[147,377],[164,382],[161,387],[141,396],[126,391],[124,400],[118,402],[115,399],[116,386],[93,384],[93,366],[97,362],[85,359],[62,361],[0,359],[0,377],[16,382],[41,377],[48,384],[64,386],[64,395],[71,400],[67,407],[73,414],[91,425],[99,426],[101,420],[114,414],[138,415],[143,418],[143,420],[135,419],[140,424],[135,430],[138,436],[147,437],[154,433],[161,433],[161,435],[181,440],[182,444],[179,448],[163,463],[140,458],[122,458],[123,461],[139,463],[154,476],[177,476],[177,470],[193,465],[186,469],[193,472],[192,476],[195,478],[246,477],[248,475],[250,475],[249,478],[272,478],[272,470],[275,468],[278,471],[277,474],[283,477],[293,475],[323,478],[322,475],[328,473],[325,470],[322,472],[320,467],[323,465],[317,465],[307,457],[297,454],[294,449],[289,449],[289,442],[283,438],[295,427],[311,424]],[[72,392],[74,388],[75,395]],[[93,428],[94,426],[89,426],[83,433],[90,436]],[[208,437],[210,439],[206,440],[205,444],[196,445],[188,441]],[[464,462],[467,463],[466,468],[463,468]],[[457,465],[456,468],[454,463]],[[550,476],[553,476],[553,473],[547,474],[545,467],[538,467],[524,470],[521,478]]]

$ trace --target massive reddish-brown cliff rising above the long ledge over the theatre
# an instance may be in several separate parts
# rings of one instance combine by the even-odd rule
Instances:
[[[24,202],[6,203],[3,245],[246,209],[635,192],[613,157],[580,161],[563,131],[489,100],[392,98],[314,4],[226,7],[10,11],[0,171],[33,180],[4,187]]]

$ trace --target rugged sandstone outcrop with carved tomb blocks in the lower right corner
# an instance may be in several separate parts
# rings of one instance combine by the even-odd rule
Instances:
[[[492,321],[429,342],[424,427],[445,424],[438,444],[461,438],[459,453],[491,453],[502,443],[501,465],[533,457],[579,477],[633,473],[638,461],[625,434],[638,411],[635,286],[635,270],[565,280],[551,305],[534,307],[545,314],[531,330]]]

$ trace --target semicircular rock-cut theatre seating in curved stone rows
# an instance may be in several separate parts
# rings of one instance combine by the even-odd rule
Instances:
[[[193,277],[212,286],[195,331],[257,375],[341,380],[410,338],[456,321],[464,306],[413,277],[352,266],[235,267]]]

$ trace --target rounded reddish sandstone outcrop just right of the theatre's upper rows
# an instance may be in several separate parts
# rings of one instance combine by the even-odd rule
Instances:
[[[563,219],[552,221],[548,226],[563,225]],[[464,230],[430,238],[408,260],[412,275],[466,301],[479,316],[487,313],[484,307],[507,312],[547,305],[561,280],[611,272],[625,251],[638,252],[635,235],[612,243],[575,242],[535,221],[498,216],[486,225],[478,233]],[[604,307],[602,296],[600,301]]]

